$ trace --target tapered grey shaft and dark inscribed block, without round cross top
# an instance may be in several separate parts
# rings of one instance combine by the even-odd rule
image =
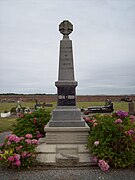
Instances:
[[[58,94],[57,105],[76,106],[77,82],[74,80],[72,41],[67,37],[60,41],[59,74],[55,85]]]

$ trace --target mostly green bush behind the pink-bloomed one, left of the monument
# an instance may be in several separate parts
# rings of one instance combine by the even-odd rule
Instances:
[[[50,118],[51,114],[46,109],[39,109],[30,114],[20,114],[13,133],[17,136],[32,134],[33,138],[39,139],[45,135],[44,126]]]

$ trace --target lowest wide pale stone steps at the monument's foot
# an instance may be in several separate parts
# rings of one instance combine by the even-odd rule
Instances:
[[[86,144],[40,144],[37,161],[44,165],[77,166],[95,165]]]

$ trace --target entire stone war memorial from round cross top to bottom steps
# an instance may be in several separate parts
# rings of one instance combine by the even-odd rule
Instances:
[[[89,127],[76,107],[77,81],[74,77],[72,40],[69,39],[73,25],[64,20],[59,25],[59,31],[63,39],[60,41],[58,81],[55,82],[57,107],[44,129],[46,137],[40,139],[37,160],[55,165],[92,164],[86,149]]]

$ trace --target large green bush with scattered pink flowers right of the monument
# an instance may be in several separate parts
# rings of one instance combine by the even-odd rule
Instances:
[[[87,148],[99,167],[135,165],[135,117],[125,111],[85,118],[90,126]],[[95,125],[96,123],[96,125]]]

